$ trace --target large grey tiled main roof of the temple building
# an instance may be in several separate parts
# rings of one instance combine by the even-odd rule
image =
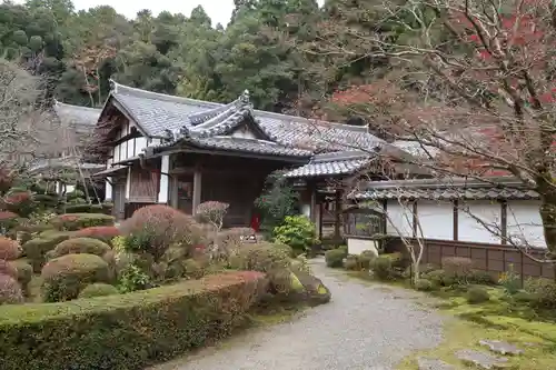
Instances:
[[[364,148],[373,150],[386,142],[367,132],[365,127],[317,122],[300,117],[251,109],[247,94],[229,104],[172,97],[112,83],[111,97],[149,136],[166,137],[186,129],[214,130],[207,136],[222,134],[241,114],[250,114],[265,139],[286,147],[311,151],[337,151]],[[247,99],[246,99],[247,98]]]

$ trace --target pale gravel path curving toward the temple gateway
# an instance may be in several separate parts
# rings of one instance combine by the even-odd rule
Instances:
[[[416,304],[424,296],[347,278],[324,260],[312,270],[330,288],[330,303],[156,369],[394,370],[411,351],[440,342],[441,318]]]

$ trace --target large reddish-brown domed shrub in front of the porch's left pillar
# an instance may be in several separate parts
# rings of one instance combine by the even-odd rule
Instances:
[[[188,248],[198,246],[205,236],[191,216],[168,206],[148,206],[135,211],[119,227],[130,252],[147,252],[158,262],[170,246]]]

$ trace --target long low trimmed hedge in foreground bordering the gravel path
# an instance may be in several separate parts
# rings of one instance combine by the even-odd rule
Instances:
[[[230,334],[266,288],[264,273],[239,271],[71,303],[0,307],[2,370],[142,369]]]

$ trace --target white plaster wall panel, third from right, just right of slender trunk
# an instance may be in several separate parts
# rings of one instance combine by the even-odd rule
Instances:
[[[419,200],[417,218],[424,238],[454,240],[454,204],[451,202]]]

